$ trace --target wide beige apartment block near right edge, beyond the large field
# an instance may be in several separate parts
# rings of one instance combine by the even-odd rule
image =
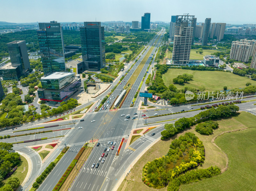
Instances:
[[[237,61],[248,62],[251,55],[253,45],[251,40],[236,40],[232,42],[230,48],[230,59]],[[254,51],[255,52],[255,51]]]

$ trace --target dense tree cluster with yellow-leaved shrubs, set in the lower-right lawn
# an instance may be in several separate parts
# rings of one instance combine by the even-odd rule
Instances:
[[[172,141],[165,156],[156,158],[144,166],[142,181],[154,188],[165,187],[170,180],[179,177],[203,160],[203,143],[195,134],[186,133]]]

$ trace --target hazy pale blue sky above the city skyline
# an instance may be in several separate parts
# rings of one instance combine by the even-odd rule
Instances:
[[[2,0],[0,21],[26,23],[57,20],[141,21],[144,12],[151,21],[170,22],[172,15],[189,13],[197,22],[212,18],[212,22],[230,24],[256,23],[255,0]]]

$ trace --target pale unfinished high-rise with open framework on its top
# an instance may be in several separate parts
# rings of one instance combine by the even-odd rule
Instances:
[[[186,65],[189,62],[195,16],[178,15],[176,19],[172,63]]]

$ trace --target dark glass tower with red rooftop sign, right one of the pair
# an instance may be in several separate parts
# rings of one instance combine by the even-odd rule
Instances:
[[[100,70],[106,62],[104,27],[100,22],[84,22],[80,36],[84,69]]]

